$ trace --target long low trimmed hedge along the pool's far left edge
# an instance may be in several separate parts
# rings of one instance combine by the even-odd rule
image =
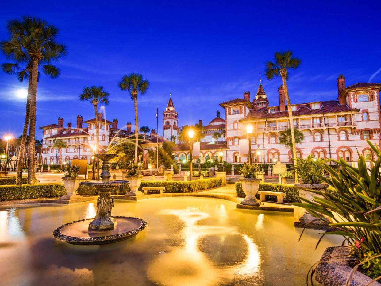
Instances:
[[[58,198],[66,194],[59,184],[0,186],[0,201],[21,199]]]

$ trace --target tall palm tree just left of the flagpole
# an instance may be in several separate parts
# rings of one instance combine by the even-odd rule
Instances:
[[[129,75],[122,77],[122,80],[119,82],[119,88],[121,90],[127,90],[131,99],[134,101],[135,107],[135,163],[138,163],[138,93],[144,95],[149,88],[149,81],[143,80],[141,74],[131,72]]]

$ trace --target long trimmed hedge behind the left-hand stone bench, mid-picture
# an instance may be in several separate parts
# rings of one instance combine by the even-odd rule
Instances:
[[[222,178],[208,178],[194,181],[142,181],[138,191],[143,187],[163,186],[163,193],[191,193],[216,188],[222,185]]]

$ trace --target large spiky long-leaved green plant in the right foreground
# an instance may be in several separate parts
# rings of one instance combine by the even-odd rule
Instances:
[[[371,160],[371,167],[367,167],[362,155],[359,156],[358,168],[352,167],[342,158],[340,161],[330,159],[341,167],[340,170],[316,161],[315,164],[331,177],[326,178],[320,172],[312,172],[322,182],[333,186],[337,190],[335,195],[310,190],[323,198],[314,196],[312,202],[299,197],[304,202],[293,203],[304,207],[317,219],[321,219],[319,213],[329,217],[333,223],[330,223],[330,229],[322,233],[322,237],[344,236],[360,262],[381,254],[381,152],[370,141],[367,140],[367,143],[376,156],[376,160]],[[363,268],[366,268],[365,272],[371,277],[381,275],[379,258],[368,261]]]

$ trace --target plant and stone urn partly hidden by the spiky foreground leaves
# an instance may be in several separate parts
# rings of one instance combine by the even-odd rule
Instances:
[[[295,188],[299,191],[299,196],[304,199],[312,201],[312,196],[321,195],[311,192],[309,190],[318,191],[324,193],[328,188],[328,184],[322,183],[322,175],[324,169],[322,164],[327,164],[327,159],[316,158],[309,155],[306,159],[297,157],[296,164],[293,165],[293,169],[298,173],[299,183],[295,183]]]

